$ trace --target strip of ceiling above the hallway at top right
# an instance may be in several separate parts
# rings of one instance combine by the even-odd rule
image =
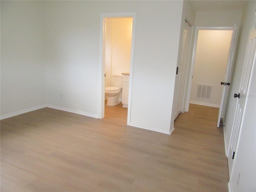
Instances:
[[[191,0],[196,11],[243,10],[246,0]]]

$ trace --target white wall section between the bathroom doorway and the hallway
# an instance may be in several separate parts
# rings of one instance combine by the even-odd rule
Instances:
[[[136,13],[131,125],[170,133],[181,15],[182,1],[147,2]]]

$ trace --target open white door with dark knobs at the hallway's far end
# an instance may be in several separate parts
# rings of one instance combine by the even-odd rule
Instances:
[[[220,108],[219,108],[219,114],[218,114],[218,122],[217,127],[220,127],[220,119],[224,118],[224,114],[226,111],[226,105],[228,101],[228,95],[229,95],[229,88],[231,84],[231,78],[233,73],[233,64],[234,64],[234,53],[236,48],[236,40],[237,40],[237,34],[238,34],[238,27],[234,25],[233,34],[230,42],[230,49],[228,54],[228,64],[226,69],[226,76],[225,81],[221,82],[223,85],[223,91],[222,91],[222,98],[220,102]]]

